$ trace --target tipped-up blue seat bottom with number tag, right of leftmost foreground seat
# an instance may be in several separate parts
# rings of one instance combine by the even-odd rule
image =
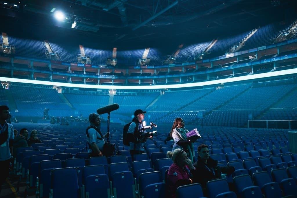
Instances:
[[[85,179],[85,192],[86,197],[89,198],[110,198],[111,193],[108,176],[105,174],[94,174],[87,176]]]

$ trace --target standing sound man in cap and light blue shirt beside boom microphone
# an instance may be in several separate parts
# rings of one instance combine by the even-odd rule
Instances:
[[[89,144],[90,157],[103,156],[103,147],[105,144],[104,138],[108,136],[108,133],[102,135],[100,131],[101,121],[99,114],[92,113],[89,115],[90,126],[86,129],[87,143]]]

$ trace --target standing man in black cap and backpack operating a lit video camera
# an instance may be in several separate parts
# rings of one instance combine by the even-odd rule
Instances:
[[[146,111],[142,111],[141,109],[137,109],[134,112],[135,117],[132,119],[132,123],[130,124],[127,132],[127,139],[130,144],[129,150],[132,157],[135,154],[144,153],[143,142],[145,142],[145,139],[138,140],[137,138],[135,138],[135,134],[138,133],[139,129],[142,129],[144,127],[143,119],[145,113]]]

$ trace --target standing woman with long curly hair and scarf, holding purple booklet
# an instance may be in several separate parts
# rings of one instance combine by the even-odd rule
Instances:
[[[185,122],[182,118],[176,118],[173,122],[170,135],[173,138],[174,149],[183,149],[186,151],[188,157],[193,161],[194,155],[194,144],[189,138],[187,138],[186,133],[189,132],[185,128]]]

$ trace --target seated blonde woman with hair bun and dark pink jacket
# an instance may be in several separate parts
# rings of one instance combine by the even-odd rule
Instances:
[[[171,158],[173,164],[168,171],[168,198],[176,197],[176,189],[193,183],[191,172],[195,170],[192,161],[187,157],[187,153],[181,149],[168,151],[167,157]]]

